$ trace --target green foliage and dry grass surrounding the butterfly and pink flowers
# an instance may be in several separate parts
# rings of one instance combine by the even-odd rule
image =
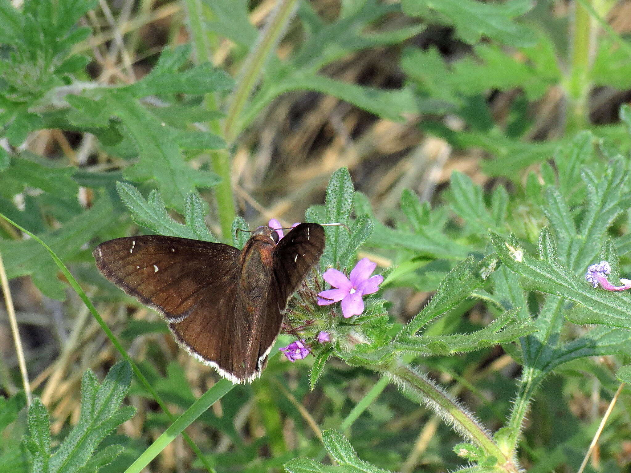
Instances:
[[[0,0],[0,254],[36,396],[8,343],[0,471],[579,469],[631,380],[631,296],[584,280],[631,274],[628,8]],[[319,269],[386,279],[352,324],[312,308],[334,343],[252,385],[90,256],[139,233],[241,247],[272,217],[344,223]],[[424,404],[432,380],[455,411]],[[586,471],[631,464],[629,394]]]

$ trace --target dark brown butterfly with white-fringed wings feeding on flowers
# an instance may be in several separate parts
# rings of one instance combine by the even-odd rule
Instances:
[[[320,225],[303,223],[278,245],[271,229],[243,250],[187,238],[117,238],[94,251],[97,267],[161,313],[180,346],[233,382],[258,377],[287,300],[324,250]]]

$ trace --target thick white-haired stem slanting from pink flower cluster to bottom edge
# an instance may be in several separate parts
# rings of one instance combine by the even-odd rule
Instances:
[[[367,366],[367,368],[369,367]],[[512,455],[506,455],[500,450],[491,434],[481,426],[473,415],[422,373],[413,370],[401,361],[392,365],[382,365],[377,369],[389,375],[405,392],[420,397],[445,422],[450,423],[457,433],[476,443],[487,455],[497,458],[496,469],[505,473],[518,473],[520,471]]]

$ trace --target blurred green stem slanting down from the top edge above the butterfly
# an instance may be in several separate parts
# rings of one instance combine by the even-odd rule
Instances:
[[[256,45],[245,59],[224,124],[225,137],[228,143],[233,141],[241,131],[239,121],[241,112],[263,73],[269,55],[278,44],[285,31],[285,26],[292,18],[297,3],[297,0],[278,0],[276,9],[259,35]]]

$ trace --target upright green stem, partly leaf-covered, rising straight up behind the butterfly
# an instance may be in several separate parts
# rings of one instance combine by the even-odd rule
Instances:
[[[199,0],[186,0],[186,10],[195,50],[195,62],[197,64],[212,62],[208,31],[202,22],[204,15],[202,5]],[[218,110],[213,93],[207,93],[204,96],[204,106],[207,110]],[[208,123],[208,129],[219,136],[224,136],[219,120],[211,120]],[[209,154],[213,171],[221,177],[221,182],[213,189],[217,202],[221,235],[223,238],[230,239],[232,237],[232,221],[237,216],[232,192],[232,163],[230,162],[230,155],[225,150],[211,151]]]

